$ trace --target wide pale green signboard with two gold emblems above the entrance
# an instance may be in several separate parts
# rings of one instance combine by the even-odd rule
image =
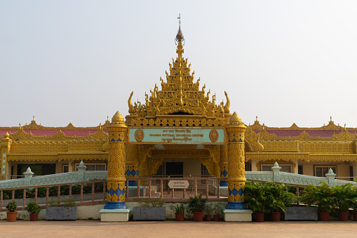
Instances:
[[[223,144],[224,128],[129,128],[129,143],[218,143]]]

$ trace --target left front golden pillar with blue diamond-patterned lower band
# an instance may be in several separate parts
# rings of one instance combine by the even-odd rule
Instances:
[[[107,126],[109,135],[107,204],[104,209],[126,209],[125,172],[126,172],[126,130],[123,116],[116,112],[112,123]]]

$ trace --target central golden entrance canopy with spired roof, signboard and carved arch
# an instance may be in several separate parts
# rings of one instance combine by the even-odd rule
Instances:
[[[127,175],[135,176],[143,169],[141,176],[152,176],[165,163],[159,173],[201,176],[207,169],[210,175],[224,176],[227,171],[221,173],[220,161],[222,167],[227,166],[228,95],[224,92],[226,102],[217,103],[205,84],[200,87],[201,79],[194,80],[191,63],[182,57],[181,27],[175,41],[177,58],[169,63],[166,80],[160,78],[161,86],[155,84],[149,95],[145,93],[144,103],[133,105],[130,94]]]

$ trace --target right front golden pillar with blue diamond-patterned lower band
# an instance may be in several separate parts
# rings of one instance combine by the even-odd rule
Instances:
[[[244,133],[247,128],[236,112],[227,125],[228,140],[228,205],[227,209],[245,209]]]

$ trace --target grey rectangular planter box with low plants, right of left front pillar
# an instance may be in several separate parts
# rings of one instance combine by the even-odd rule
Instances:
[[[140,206],[133,209],[133,220],[166,220],[165,201],[161,199],[142,199]]]

